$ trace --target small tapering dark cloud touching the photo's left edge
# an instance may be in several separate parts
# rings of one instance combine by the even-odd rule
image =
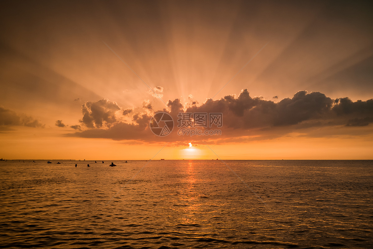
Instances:
[[[44,128],[45,125],[41,124],[37,119],[34,119],[25,114],[18,115],[16,112],[0,107],[0,126],[27,126],[27,127],[41,127]],[[4,129],[2,129],[4,130]]]

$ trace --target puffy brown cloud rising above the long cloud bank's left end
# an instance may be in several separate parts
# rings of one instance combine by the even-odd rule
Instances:
[[[117,122],[117,111],[120,111],[120,107],[108,99],[86,102],[82,105],[83,118],[79,122],[88,128],[101,128],[103,125],[110,127]]]

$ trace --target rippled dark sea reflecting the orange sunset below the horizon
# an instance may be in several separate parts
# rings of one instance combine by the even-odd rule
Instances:
[[[98,162],[0,161],[0,247],[373,248],[373,161]]]

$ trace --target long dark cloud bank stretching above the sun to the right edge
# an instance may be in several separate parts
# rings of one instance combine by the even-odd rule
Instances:
[[[172,116],[175,131],[167,137],[162,137],[162,140],[175,142],[188,139],[178,136],[176,131],[178,129],[176,128],[177,115],[179,112],[184,112],[180,99],[169,100],[167,107],[168,109],[162,111]],[[233,138],[241,137],[241,140],[262,140],[285,136],[296,131],[318,136],[312,131],[315,128],[327,127],[330,131],[332,128],[335,130],[335,127],[351,127],[349,129],[352,129],[352,127],[367,126],[373,122],[373,99],[356,102],[348,98],[332,100],[323,93],[298,91],[292,98],[282,99],[275,103],[263,97],[251,97],[248,90],[244,89],[238,97],[228,95],[220,100],[207,100],[201,106],[189,106],[185,112],[222,113],[223,115],[222,136],[198,137],[197,139],[216,138],[233,141]],[[160,138],[153,136],[149,129],[151,116],[149,112],[135,113],[132,116],[132,124],[117,121],[106,130],[87,130],[71,136],[157,141]],[[348,129],[343,130],[345,133],[348,131]],[[353,133],[358,134],[356,130],[353,130]],[[255,134],[255,136],[248,137],[247,134]],[[326,136],[325,133],[319,134]]]

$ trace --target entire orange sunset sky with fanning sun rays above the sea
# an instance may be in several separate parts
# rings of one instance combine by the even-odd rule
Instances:
[[[373,159],[372,13],[1,1],[0,158]],[[175,121],[168,136],[149,128],[158,111]],[[179,136],[179,112],[223,113],[222,134]]]

